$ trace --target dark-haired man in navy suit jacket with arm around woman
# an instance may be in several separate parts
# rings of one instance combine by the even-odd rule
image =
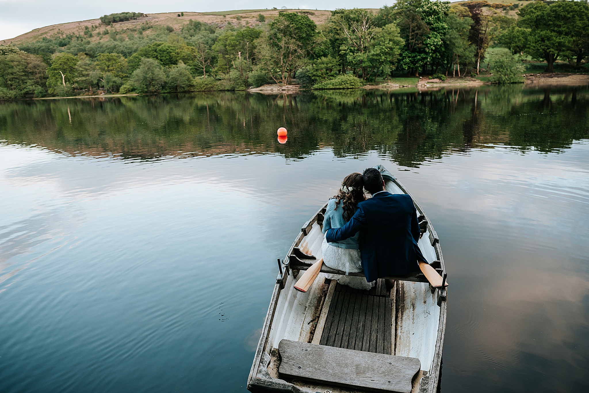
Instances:
[[[372,198],[358,203],[358,210],[344,226],[327,230],[327,242],[348,239],[360,231],[362,267],[368,282],[419,270],[418,259],[426,260],[417,244],[419,225],[411,197],[385,191],[378,169],[366,169],[362,180]]]

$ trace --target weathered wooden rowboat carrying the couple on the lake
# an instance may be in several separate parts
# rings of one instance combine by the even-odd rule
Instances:
[[[377,166],[391,193],[409,192]],[[428,262],[445,272],[438,235],[418,203],[419,247]],[[323,206],[302,227],[276,279],[247,389],[252,392],[434,393],[441,378],[446,326],[446,290],[432,287],[421,273],[394,277],[386,288],[342,286],[322,266],[307,292],[293,288],[302,270],[322,257]],[[350,273],[362,276],[363,273]],[[442,287],[443,288],[443,287]]]

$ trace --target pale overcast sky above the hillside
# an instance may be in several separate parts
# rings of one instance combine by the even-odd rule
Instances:
[[[0,0],[0,40],[14,38],[32,29],[58,23],[99,18],[113,12],[210,12],[260,8],[380,8],[386,0]],[[389,0],[388,4],[393,1]]]

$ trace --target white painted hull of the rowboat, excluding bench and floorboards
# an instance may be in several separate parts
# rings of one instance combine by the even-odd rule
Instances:
[[[382,167],[381,167],[382,168]],[[382,171],[382,170],[381,170]],[[386,174],[388,171],[384,170]],[[391,193],[406,193],[408,191],[394,177],[385,177],[386,190]],[[415,202],[418,216],[427,220],[427,227],[419,240],[419,247],[423,256],[432,263],[439,261],[439,266],[445,272],[444,259],[439,246],[438,236],[431,222]],[[325,207],[325,206],[324,206]],[[303,226],[302,232],[290,248],[288,263],[293,247],[299,247],[303,252],[322,257],[321,243],[323,234],[317,223],[322,210]],[[437,262],[436,262],[437,263]],[[287,266],[284,266],[287,269]],[[291,270],[291,274],[284,270],[279,275],[272,293],[272,300],[264,321],[262,335],[257,346],[252,370],[247,381],[247,388],[252,392],[363,392],[363,389],[342,388],[336,385],[308,382],[281,377],[278,372],[280,356],[279,343],[282,339],[299,342],[313,342],[317,318],[322,306],[329,304],[331,296],[325,294],[325,273],[319,276],[307,292],[299,292],[293,288],[296,274],[300,271]],[[392,313],[392,355],[417,358],[421,362],[421,371],[413,380],[412,392],[434,393],[438,388],[442,362],[442,344],[446,325],[446,290],[432,288],[427,282],[416,282],[415,278],[397,280]],[[418,278],[419,279],[419,278]],[[425,279],[422,278],[423,281]],[[333,291],[330,291],[333,294]],[[325,313],[325,312],[324,312]],[[318,365],[320,366],[320,365]],[[384,376],[383,376],[384,377]],[[386,378],[385,378],[386,379]]]

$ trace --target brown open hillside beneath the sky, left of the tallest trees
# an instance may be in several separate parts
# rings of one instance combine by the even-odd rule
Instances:
[[[180,29],[188,24],[190,19],[204,22],[206,24],[217,24],[221,29],[228,23],[234,26],[254,26],[260,25],[261,22],[257,21],[258,15],[262,14],[266,19],[274,19],[278,15],[279,9],[238,9],[234,11],[219,11],[219,12],[184,12],[184,16],[178,16],[178,12],[164,12],[162,14],[148,14],[147,16],[141,16],[137,19],[133,19],[125,22],[118,22],[113,25],[120,32],[125,34],[127,32],[137,31],[141,25],[151,26],[170,26],[174,31],[180,31]],[[313,22],[317,25],[322,24],[329,18],[331,11],[316,10],[316,9],[292,9],[292,12],[301,12],[309,16]],[[105,29],[110,28],[107,25],[101,23],[100,18],[88,19],[87,21],[69,22],[57,25],[51,25],[41,27],[29,31],[28,33],[21,34],[18,37],[5,39],[0,41],[0,44],[14,44],[16,46],[25,44],[27,42],[37,41],[43,37],[50,38],[54,35],[83,35],[87,29],[92,33],[90,41],[100,41],[104,35],[98,35],[98,32],[104,32]],[[145,30],[143,34],[152,34],[153,30]]]

